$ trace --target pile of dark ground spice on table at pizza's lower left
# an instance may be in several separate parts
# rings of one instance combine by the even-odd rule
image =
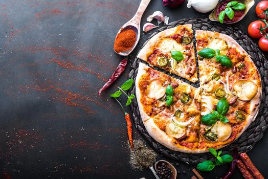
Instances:
[[[133,141],[133,150],[131,150],[130,145],[130,165],[135,170],[142,170],[152,166],[156,159],[157,153],[155,153],[151,148],[145,146],[144,142],[141,140]]]

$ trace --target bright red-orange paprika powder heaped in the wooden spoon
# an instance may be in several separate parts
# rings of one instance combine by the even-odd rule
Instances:
[[[136,32],[131,29],[127,29],[117,35],[115,39],[114,49],[117,53],[125,52],[130,50],[135,42]]]

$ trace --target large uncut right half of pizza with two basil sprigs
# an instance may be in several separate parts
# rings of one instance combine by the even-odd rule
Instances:
[[[236,140],[256,118],[261,79],[250,56],[230,36],[196,31],[195,37],[202,89],[198,147],[220,148]],[[217,113],[217,104],[224,98],[230,106],[224,117],[205,122],[205,116]]]

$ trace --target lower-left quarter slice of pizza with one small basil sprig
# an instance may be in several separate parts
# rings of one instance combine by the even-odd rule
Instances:
[[[199,93],[199,88],[139,64],[136,96],[142,121],[155,141],[172,150],[198,152]]]

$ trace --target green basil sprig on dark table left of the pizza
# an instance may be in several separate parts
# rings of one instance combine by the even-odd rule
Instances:
[[[115,93],[111,94],[110,97],[118,98],[124,93],[127,96],[126,106],[128,106],[129,104],[131,104],[132,99],[135,98],[135,95],[131,94],[130,96],[128,96],[124,91],[128,90],[132,86],[132,84],[133,84],[132,78],[126,80],[120,87],[118,86],[119,91],[116,91]]]

